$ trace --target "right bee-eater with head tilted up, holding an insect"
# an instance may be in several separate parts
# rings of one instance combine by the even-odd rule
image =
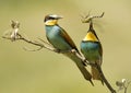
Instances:
[[[103,48],[102,44],[93,28],[93,22],[90,23],[90,30],[86,36],[81,42],[81,51],[91,63],[102,66],[103,61]],[[92,65],[91,65],[92,66]],[[91,67],[92,77],[94,80],[103,80],[100,78],[99,71],[95,66]]]

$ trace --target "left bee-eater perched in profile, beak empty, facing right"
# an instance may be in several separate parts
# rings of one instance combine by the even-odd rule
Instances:
[[[59,19],[62,18],[56,14],[48,14],[45,16],[44,22],[46,28],[46,37],[48,42],[59,51],[66,51],[63,53],[63,55],[72,59],[76,63],[80,71],[82,72],[83,77],[93,84],[92,75],[86,70],[85,63],[74,54],[70,53],[71,50],[74,49],[78,54],[80,54],[75,44],[68,35],[68,33],[58,25]]]

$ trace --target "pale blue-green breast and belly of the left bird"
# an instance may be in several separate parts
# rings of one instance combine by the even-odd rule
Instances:
[[[47,39],[57,49],[61,49],[61,50],[72,49],[71,46],[62,37],[61,31],[62,30],[58,25],[46,26],[46,36],[47,36]]]

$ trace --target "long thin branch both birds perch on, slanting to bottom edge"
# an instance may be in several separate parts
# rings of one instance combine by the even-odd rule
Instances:
[[[2,38],[5,38],[5,39],[12,39],[11,37],[5,37],[5,36],[2,36]],[[40,38],[39,38],[40,39]],[[15,38],[15,40],[24,40],[28,44],[32,44],[32,45],[35,45],[35,46],[39,46],[39,49],[41,48],[46,48],[48,50],[51,50],[51,51],[55,51],[55,53],[61,53],[61,54],[64,54],[64,53],[69,53],[69,50],[64,50],[64,51],[59,51],[57,50],[56,48],[53,48],[52,46],[50,46],[50,44],[48,44],[47,42],[43,40],[44,44],[40,44],[38,42],[33,42],[33,40],[29,40],[29,39],[26,39],[24,38],[21,34],[17,33],[17,38]],[[40,39],[41,40],[41,39]],[[28,49],[27,49],[28,50]],[[34,51],[34,50],[32,50]],[[102,79],[104,80],[105,84],[107,85],[107,88],[110,90],[111,93],[116,93],[116,91],[111,88],[111,85],[109,84],[109,82],[106,80],[104,73],[103,73],[103,70],[102,68],[98,66],[98,65],[92,65],[87,60],[85,60],[84,57],[80,56],[80,54],[78,54],[76,51],[73,51],[73,50],[70,50],[70,53],[74,54],[75,53],[75,56],[78,56],[80,59],[82,59],[83,61],[85,61],[87,65],[90,66],[96,66],[99,73],[100,73],[100,77]]]

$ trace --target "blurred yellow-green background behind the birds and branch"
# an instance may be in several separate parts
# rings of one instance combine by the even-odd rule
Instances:
[[[64,16],[59,24],[80,47],[88,28],[81,14],[88,11],[93,15],[105,12],[94,27],[104,47],[104,73],[117,89],[117,80],[131,80],[131,0],[0,0],[0,36],[11,20],[17,20],[25,36],[46,39],[43,20],[55,13]],[[24,46],[36,48],[0,38],[0,93],[109,93],[100,82],[92,86],[85,81],[67,57],[47,49],[25,51]]]

